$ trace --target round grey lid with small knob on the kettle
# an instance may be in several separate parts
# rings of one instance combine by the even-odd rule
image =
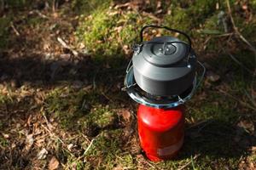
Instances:
[[[166,66],[177,63],[188,56],[189,48],[186,42],[176,37],[154,37],[143,43],[142,54],[149,63]]]

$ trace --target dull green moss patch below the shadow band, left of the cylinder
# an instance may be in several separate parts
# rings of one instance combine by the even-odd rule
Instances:
[[[83,90],[56,88],[47,95],[45,107],[49,116],[60,120],[62,127],[80,129],[90,133],[89,136],[95,136],[100,129],[115,126],[117,121],[117,115],[111,108],[98,102],[101,101],[98,101],[96,92],[88,94]]]

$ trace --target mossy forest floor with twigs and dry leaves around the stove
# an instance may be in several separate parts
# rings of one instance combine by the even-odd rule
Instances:
[[[256,169],[256,1],[228,2],[0,0],[0,169]],[[143,155],[121,91],[146,24],[207,67],[172,161]]]

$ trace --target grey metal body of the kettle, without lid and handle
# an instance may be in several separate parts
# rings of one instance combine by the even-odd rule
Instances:
[[[148,62],[148,53],[144,53],[143,50],[133,54],[132,57],[135,81],[143,91],[155,96],[172,96],[182,94],[191,86],[195,78],[196,66],[193,50],[189,55],[179,57],[168,65]]]

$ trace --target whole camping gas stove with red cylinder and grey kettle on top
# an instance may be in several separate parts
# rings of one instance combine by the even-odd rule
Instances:
[[[177,32],[188,42],[170,36],[143,42],[146,28]],[[146,156],[151,161],[161,161],[176,156],[183,145],[183,104],[200,85],[205,67],[197,61],[190,37],[183,31],[166,26],[143,26],[140,38],[126,69],[124,89],[140,104],[138,135]],[[197,64],[203,68],[200,81],[196,78]]]

